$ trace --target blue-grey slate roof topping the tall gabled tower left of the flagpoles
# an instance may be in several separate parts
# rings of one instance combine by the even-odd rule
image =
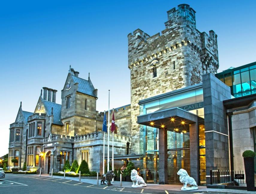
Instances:
[[[93,93],[93,87],[90,84],[90,81],[82,79],[82,78],[78,78],[74,75],[72,75],[72,79],[73,79],[74,83],[78,83],[78,90],[77,90],[78,92],[97,97]]]

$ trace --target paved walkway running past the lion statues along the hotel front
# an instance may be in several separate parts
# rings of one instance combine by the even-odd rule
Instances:
[[[42,176],[48,176],[49,175],[42,175]],[[53,176],[54,178],[63,178],[60,176]],[[79,181],[79,177],[66,177],[68,180],[74,180],[74,181]],[[97,180],[96,179],[86,179],[86,178],[81,178],[81,182],[84,183],[89,183],[89,184],[94,184],[97,185]],[[99,179],[99,184],[100,184],[100,179]],[[113,186],[115,187],[120,187],[120,181],[114,181],[112,182]],[[131,187],[132,182],[122,182],[122,187]],[[154,189],[154,190],[166,190],[166,191],[181,191],[181,185],[180,184],[174,184],[174,185],[159,185],[159,184],[147,184],[147,187],[139,187],[137,189]],[[220,193],[220,194],[228,194],[228,193],[244,193],[244,194],[256,194],[256,192],[253,191],[246,191],[246,190],[235,190],[235,189],[209,189],[206,188],[206,186],[198,186],[198,190],[193,190],[193,191],[187,191],[187,192],[197,192],[197,194],[202,194],[202,193]]]

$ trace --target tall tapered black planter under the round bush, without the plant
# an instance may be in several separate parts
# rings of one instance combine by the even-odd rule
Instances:
[[[254,157],[244,157],[244,168],[247,191],[255,191],[254,187]]]

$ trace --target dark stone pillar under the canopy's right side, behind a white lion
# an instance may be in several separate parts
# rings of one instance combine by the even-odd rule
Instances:
[[[199,184],[199,148],[197,123],[191,123],[189,126],[190,139],[190,176]]]

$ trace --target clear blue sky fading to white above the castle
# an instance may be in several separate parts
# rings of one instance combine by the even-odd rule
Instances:
[[[165,29],[166,11],[186,3],[201,32],[218,35],[219,70],[256,61],[256,1],[2,1],[0,157],[19,103],[34,112],[42,87],[63,89],[71,65],[98,89],[97,110],[130,104],[127,35]]]

